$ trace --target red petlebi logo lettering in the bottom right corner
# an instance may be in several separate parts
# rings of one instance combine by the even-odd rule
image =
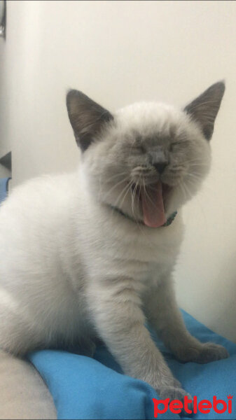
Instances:
[[[232,395],[227,395],[227,398],[227,402],[224,400],[218,400],[216,395],[214,395],[212,402],[209,400],[198,401],[196,396],[193,397],[193,400],[190,400],[187,395],[184,397],[183,402],[180,400],[170,401],[169,398],[166,398],[165,400],[157,400],[156,398],[153,398],[154,417],[157,418],[158,414],[166,413],[168,408],[174,414],[181,413],[182,409],[185,410],[186,414],[197,414],[197,411],[202,414],[207,414],[211,412],[211,409],[218,414],[222,414],[226,411],[231,414]],[[191,406],[189,407],[189,405],[192,403],[193,409],[190,409]],[[161,407],[161,405],[164,405],[164,407]]]

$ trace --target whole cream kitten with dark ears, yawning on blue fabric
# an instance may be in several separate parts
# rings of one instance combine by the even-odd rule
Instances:
[[[186,330],[172,286],[181,207],[209,172],[224,90],[215,83],[184,109],[144,102],[116,113],[68,92],[78,170],[29,180],[1,205],[1,349],[92,355],[102,340],[125,374],[179,400],[188,394],[146,321],[182,362],[228,357]]]

